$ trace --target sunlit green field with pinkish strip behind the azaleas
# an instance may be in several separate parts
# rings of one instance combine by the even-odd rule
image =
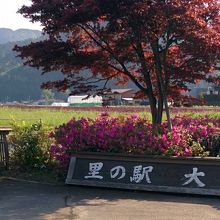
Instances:
[[[32,124],[34,122],[42,121],[48,126],[58,126],[71,118],[76,119],[96,118],[102,112],[107,111],[111,116],[128,116],[134,113],[138,113],[141,117],[151,118],[149,107],[112,107],[112,108],[42,108],[42,107],[9,107],[0,106],[0,126],[10,126],[14,121]],[[195,107],[195,108],[173,108],[171,109],[171,115],[176,114],[190,115],[192,117],[203,117],[209,115],[209,117],[220,118],[220,108],[210,107]],[[166,117],[164,116],[164,119]]]

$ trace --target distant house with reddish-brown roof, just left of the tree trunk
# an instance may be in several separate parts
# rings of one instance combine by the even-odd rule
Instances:
[[[103,95],[103,105],[133,105],[134,89],[111,89]]]

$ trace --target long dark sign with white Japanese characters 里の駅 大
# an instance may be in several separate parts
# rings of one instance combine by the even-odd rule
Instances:
[[[79,154],[67,184],[220,195],[220,159]]]

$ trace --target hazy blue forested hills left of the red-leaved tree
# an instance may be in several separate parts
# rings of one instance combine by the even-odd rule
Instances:
[[[40,31],[0,29],[0,102],[41,99],[41,83],[59,77],[58,73],[41,76],[40,71],[23,66],[12,50],[15,44],[25,45],[40,37]]]

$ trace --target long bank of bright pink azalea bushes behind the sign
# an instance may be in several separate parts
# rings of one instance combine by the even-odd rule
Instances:
[[[73,118],[51,134],[51,153],[63,165],[68,164],[70,152],[82,151],[208,156],[203,143],[220,130],[220,119],[176,116],[172,122],[171,131],[163,123],[155,135],[150,121],[138,115],[115,118],[103,113],[94,120]]]

